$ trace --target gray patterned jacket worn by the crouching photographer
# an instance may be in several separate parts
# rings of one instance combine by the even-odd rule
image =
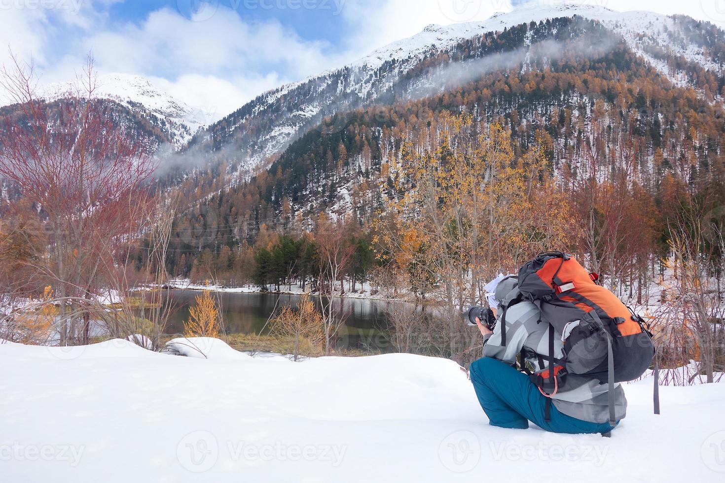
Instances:
[[[518,293],[515,287],[515,278],[502,280],[497,287],[494,298],[498,303],[511,298]],[[521,348],[524,351],[526,362],[531,365],[534,372],[543,371],[548,367],[548,361],[539,356],[549,354],[549,331],[553,330],[550,324],[542,320],[541,311],[528,301],[516,303],[508,308],[506,314],[506,345],[501,345],[501,311],[497,311],[498,323],[492,335],[484,338],[484,356],[497,358],[508,364],[515,364]],[[563,342],[558,332],[554,334],[554,356],[565,358]],[[624,389],[619,383],[615,385],[615,415],[622,419],[626,415],[627,400]],[[597,379],[566,374],[565,383],[560,386],[552,403],[562,413],[583,421],[605,423],[609,421],[608,387]]]

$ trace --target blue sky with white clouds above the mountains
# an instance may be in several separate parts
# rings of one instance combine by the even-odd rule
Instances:
[[[72,79],[92,52],[100,73],[144,75],[222,117],[263,91],[340,67],[430,23],[484,20],[522,1],[0,0],[0,46],[33,59],[41,83]],[[574,3],[684,13],[724,25],[720,1]],[[0,62],[7,64],[7,49],[0,49]]]

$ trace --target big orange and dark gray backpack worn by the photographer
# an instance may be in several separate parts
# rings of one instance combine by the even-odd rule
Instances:
[[[555,360],[550,354],[550,363],[560,368],[551,364],[554,370],[548,371],[545,379],[539,374],[534,380],[544,395],[544,387],[551,390],[557,386],[555,377],[560,373],[572,373],[608,383],[613,398],[615,382],[637,379],[653,361],[655,345],[645,321],[610,290],[597,285],[598,278],[562,252],[541,253],[518,272],[521,299],[541,309],[542,320],[564,343],[565,358]],[[656,406],[655,395],[658,413]],[[610,401],[611,419],[613,413]]]

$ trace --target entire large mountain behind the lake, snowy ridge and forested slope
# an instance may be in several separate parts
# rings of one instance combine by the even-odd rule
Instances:
[[[310,226],[320,211],[370,226],[415,190],[401,170],[410,153],[444,156],[450,147],[440,144],[440,133],[463,119],[479,127],[460,143],[473,146],[486,126],[499,125],[513,159],[541,148],[558,187],[552,195],[567,206],[589,199],[591,180],[624,180],[622,189],[631,193],[623,199],[635,211],[658,212],[641,232],[653,251],[664,249],[658,230],[685,191],[725,203],[725,33],[687,17],[573,11],[589,15],[550,9],[565,15],[527,21],[530,15],[517,13],[430,27],[357,67],[268,93],[261,99],[273,102],[248,104],[200,133],[218,143],[221,167],[257,162],[249,171],[256,174],[225,185],[222,169],[210,167],[185,180],[184,198],[199,202],[176,220],[170,271],[199,280],[228,272],[223,258],[213,270],[199,267],[215,266],[223,251],[268,241],[270,231]],[[429,42],[437,43],[426,48]],[[373,73],[361,80],[368,68]],[[246,110],[232,129],[231,120]],[[243,141],[252,148],[240,152]],[[260,164],[265,158],[255,161],[254,149],[262,148],[278,153]],[[204,236],[191,240],[188,233]]]

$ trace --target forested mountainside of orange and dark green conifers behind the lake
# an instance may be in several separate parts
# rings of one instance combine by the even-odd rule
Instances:
[[[703,40],[710,45],[708,56],[719,58],[722,33],[705,31],[711,33]],[[638,245],[647,247],[643,259],[663,253],[667,217],[690,203],[685,196],[706,201],[711,209],[725,202],[720,94],[725,84],[719,71],[703,70],[682,56],[665,51],[652,55],[666,59],[666,72],[643,62],[622,35],[581,17],[521,24],[461,42],[422,62],[414,77],[430,78],[450,59],[464,66],[456,70],[459,78],[460,72],[476,72],[480,59],[489,62],[497,56],[496,62],[509,59],[508,64],[435,96],[326,119],[265,172],[220,190],[183,214],[170,270],[191,274],[203,255],[204,266],[228,273],[233,271],[230,256],[242,253],[240,246],[254,245],[260,232],[262,244],[273,243],[270,232],[310,227],[305,220],[315,220],[320,211],[332,217],[352,215],[372,240],[365,227],[415,188],[406,179],[403,160],[410,151],[438,152],[440,133],[450,130],[452,114],[483,126],[468,133],[474,140],[491,125],[502,127],[512,163],[541,148],[547,172],[568,206],[576,208],[580,196],[619,183],[617,189],[626,188],[632,203],[628,209],[639,213],[631,220],[645,234]],[[682,75],[687,82],[673,82]],[[483,172],[478,182],[486,185]],[[606,232],[606,210],[600,209],[598,228],[592,230]],[[190,233],[199,236],[188,237]],[[568,243],[568,248],[588,253],[584,238],[572,237]],[[221,266],[213,262],[219,253],[224,253]],[[252,260],[249,253],[239,256]],[[211,269],[200,273],[196,268],[197,278],[212,277]]]

